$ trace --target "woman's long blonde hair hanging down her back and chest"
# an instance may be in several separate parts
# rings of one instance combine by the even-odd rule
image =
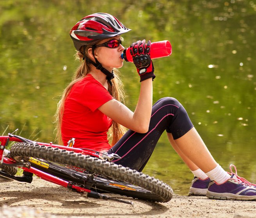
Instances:
[[[100,40],[99,40],[100,41]],[[94,42],[93,44],[96,44]],[[73,75],[71,83],[68,84],[66,89],[63,91],[61,99],[57,105],[57,111],[55,113],[55,131],[56,131],[56,140],[59,144],[63,144],[62,141],[62,134],[61,134],[61,125],[62,125],[62,116],[64,113],[64,103],[66,97],[68,96],[69,91],[73,87],[75,83],[83,79],[91,70],[91,64],[83,60],[84,54],[88,57],[88,49],[92,47],[90,45],[85,47],[85,51],[83,50],[84,47],[82,46],[80,51],[76,52],[76,58],[80,61],[80,66],[76,69],[76,72]],[[83,54],[84,53],[84,54]],[[116,100],[120,102],[124,102],[124,91],[123,91],[123,83],[119,77],[119,71],[117,69],[113,69],[115,77],[111,80],[112,86],[108,84],[108,92],[112,95]],[[113,146],[116,142],[124,135],[126,132],[126,128],[120,125],[119,123],[112,121],[112,128],[108,132],[108,138],[112,140],[111,145]]]

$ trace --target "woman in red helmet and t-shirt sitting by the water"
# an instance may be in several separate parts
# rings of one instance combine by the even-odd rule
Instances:
[[[121,103],[123,93],[117,68],[124,62],[121,34],[128,31],[106,13],[86,16],[71,29],[81,65],[59,102],[60,141],[67,145],[69,139],[75,138],[74,147],[116,153],[121,159],[115,163],[142,171],[166,130],[172,147],[195,176],[191,195],[256,200],[256,185],[222,169],[178,100],[161,98],[152,107],[155,74],[150,41],[139,40],[130,46],[141,82],[136,109],[133,112]],[[111,146],[107,137],[110,127]],[[129,130],[125,132],[124,127]]]

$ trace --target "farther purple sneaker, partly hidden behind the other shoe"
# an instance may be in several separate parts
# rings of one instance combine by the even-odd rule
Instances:
[[[188,196],[191,196],[191,195],[203,195],[203,196],[205,196],[210,181],[211,181],[210,178],[200,179],[200,178],[195,176],[192,183],[191,183],[191,187],[189,189]]]

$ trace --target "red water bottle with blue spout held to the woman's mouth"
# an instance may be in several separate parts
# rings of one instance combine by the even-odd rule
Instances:
[[[151,43],[151,48],[150,48],[151,59],[167,57],[167,56],[170,56],[171,53],[172,53],[172,46],[168,40]],[[121,57],[126,62],[133,62],[132,55],[130,53],[130,47],[124,49]]]

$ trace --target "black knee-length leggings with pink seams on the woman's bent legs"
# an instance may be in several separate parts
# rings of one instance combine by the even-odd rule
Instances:
[[[178,139],[192,127],[187,111],[178,100],[161,98],[152,107],[148,132],[141,134],[128,130],[108,153],[121,156],[121,159],[113,161],[116,164],[142,171],[164,130]]]

